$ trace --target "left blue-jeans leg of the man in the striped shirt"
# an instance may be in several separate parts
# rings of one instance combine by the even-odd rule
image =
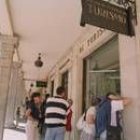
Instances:
[[[55,140],[55,128],[47,128],[45,140]]]

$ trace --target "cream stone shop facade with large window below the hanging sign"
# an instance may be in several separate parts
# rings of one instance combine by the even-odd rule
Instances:
[[[138,27],[136,27],[138,28]],[[113,91],[132,98],[123,114],[124,138],[140,138],[140,82],[138,34],[116,34],[88,26],[83,35],[54,66],[48,75],[50,93],[62,84],[67,73],[68,98],[73,99],[73,140],[78,140],[76,122],[92,97]],[[52,84],[53,83],[53,84]],[[52,87],[53,86],[53,87]],[[53,90],[52,90],[53,88]]]

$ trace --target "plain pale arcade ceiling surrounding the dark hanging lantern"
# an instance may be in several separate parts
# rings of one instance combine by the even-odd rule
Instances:
[[[25,78],[46,77],[83,30],[81,0],[9,0],[7,6],[13,33],[20,37]],[[34,66],[38,53],[44,62],[40,72]]]

